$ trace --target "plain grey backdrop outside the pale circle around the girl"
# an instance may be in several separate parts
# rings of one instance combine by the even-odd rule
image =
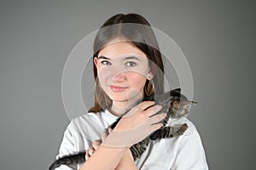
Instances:
[[[210,169],[255,165],[255,1],[1,1],[0,168],[47,169],[69,119],[61,75],[113,14],[143,14],[177,42],[194,79],[190,120]]]

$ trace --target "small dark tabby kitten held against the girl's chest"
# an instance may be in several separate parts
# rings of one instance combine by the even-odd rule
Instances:
[[[157,140],[166,139],[166,138],[173,138],[179,135],[182,135],[188,128],[186,123],[178,124],[175,126],[166,126],[167,122],[170,118],[180,118],[182,116],[188,116],[189,114],[189,106],[196,104],[195,101],[189,101],[183,94],[180,93],[181,89],[176,88],[171,91],[168,91],[164,94],[159,96],[149,96],[143,100],[153,100],[156,104],[160,104],[163,106],[160,112],[166,112],[167,116],[162,121],[164,127],[154,131],[151,133],[146,139],[143,139],[141,142],[137,144],[133,144],[130,148],[131,154],[136,161],[140,156],[142,156],[143,152],[147,149],[150,140]],[[158,114],[156,113],[156,114]],[[121,117],[120,117],[121,118]],[[119,122],[120,118],[113,122],[111,128],[113,129],[116,124]],[[49,167],[49,170],[54,170],[56,167],[60,167],[62,164],[67,166],[83,163],[85,160],[85,150],[74,153],[68,156],[62,156],[58,160],[55,160],[53,164]]]

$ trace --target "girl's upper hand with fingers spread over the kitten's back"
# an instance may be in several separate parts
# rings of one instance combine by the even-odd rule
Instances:
[[[166,113],[155,115],[161,109],[162,106],[154,105],[154,101],[143,101],[120,119],[102,144],[110,147],[137,144],[163,126],[160,121],[166,117]]]

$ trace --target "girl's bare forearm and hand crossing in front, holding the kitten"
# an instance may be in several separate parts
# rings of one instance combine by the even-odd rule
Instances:
[[[162,108],[160,105],[153,105],[154,102],[145,101],[123,116],[113,129],[113,132],[110,133],[107,139],[95,150],[94,154],[90,156],[90,159],[85,161],[80,170],[113,170],[118,166],[119,161],[124,155],[125,160],[122,160],[119,166],[128,167],[129,165],[129,167],[131,166],[134,169],[135,165],[133,162],[131,164],[131,159],[126,159],[127,156],[130,156],[127,150],[129,150],[132,144],[138,143],[150,133],[160,128],[162,123],[157,122],[160,122],[166,117],[166,114],[153,116]],[[131,132],[135,130],[137,132],[137,138],[134,138],[135,135],[132,135],[131,138],[131,134],[133,134]]]

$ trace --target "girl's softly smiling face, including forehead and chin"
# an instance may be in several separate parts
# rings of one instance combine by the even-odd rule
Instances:
[[[131,42],[109,43],[94,59],[100,85],[113,105],[143,99],[147,77],[153,77],[148,58]],[[149,78],[148,78],[149,79]]]

